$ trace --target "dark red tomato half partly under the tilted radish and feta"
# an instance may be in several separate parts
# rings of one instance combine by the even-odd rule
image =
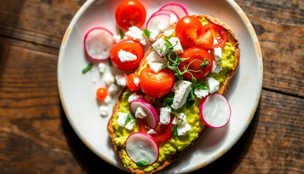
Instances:
[[[160,115],[160,110],[159,108],[155,108],[157,115]],[[172,136],[172,127],[174,126],[172,124],[173,117],[172,115],[170,116],[170,123],[169,124],[157,124],[156,128],[154,131],[156,133],[151,134],[151,136],[157,141],[157,142],[162,142],[168,140]],[[140,131],[147,133],[150,130],[150,127],[146,123],[144,119],[139,120],[139,129]]]

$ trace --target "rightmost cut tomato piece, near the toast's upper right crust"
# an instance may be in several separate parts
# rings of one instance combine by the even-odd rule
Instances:
[[[223,27],[216,25],[214,23],[208,23],[203,26],[201,33],[205,33],[207,31],[211,31],[213,39],[216,39],[218,42],[218,44],[213,45],[211,48],[218,48],[218,47],[223,48],[225,46],[227,41],[227,33],[223,29]]]

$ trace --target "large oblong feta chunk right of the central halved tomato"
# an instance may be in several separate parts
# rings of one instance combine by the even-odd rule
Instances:
[[[172,91],[175,91],[175,94],[173,98],[173,104],[171,105],[172,108],[178,109],[186,103],[188,94],[191,91],[191,85],[191,82],[185,80],[178,81],[174,84],[175,89],[172,89]]]

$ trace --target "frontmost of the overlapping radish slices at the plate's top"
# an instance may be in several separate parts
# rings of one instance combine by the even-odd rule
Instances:
[[[170,26],[170,15],[161,13],[151,16],[147,22],[146,29],[149,31],[151,29],[158,31],[158,26],[161,25],[163,25],[165,29]]]

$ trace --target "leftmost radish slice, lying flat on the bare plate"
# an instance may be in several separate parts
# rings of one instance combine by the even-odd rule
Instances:
[[[85,34],[85,52],[91,59],[108,59],[113,44],[113,34],[103,27],[92,28]]]

